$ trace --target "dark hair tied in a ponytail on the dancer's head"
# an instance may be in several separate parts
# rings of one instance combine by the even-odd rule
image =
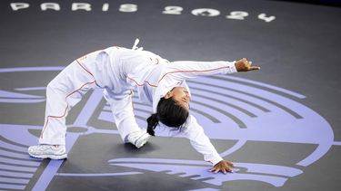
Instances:
[[[188,110],[178,105],[176,100],[161,98],[157,104],[156,113],[146,119],[148,123],[146,131],[150,135],[155,136],[154,129],[159,121],[168,127],[180,129],[186,122],[188,115]]]

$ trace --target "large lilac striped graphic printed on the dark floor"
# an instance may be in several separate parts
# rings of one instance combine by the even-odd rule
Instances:
[[[0,73],[15,76],[22,73],[26,75],[36,72],[59,72],[62,69],[63,67],[7,68],[0,69]],[[340,145],[340,142],[334,141],[333,130],[326,119],[296,101],[305,99],[304,95],[229,75],[202,77],[187,82],[193,97],[191,112],[204,127],[206,135],[211,140],[236,140],[232,147],[220,152],[223,158],[227,159],[229,155],[244,149],[247,141],[307,144],[316,146],[315,150],[299,161],[293,161],[290,166],[233,161],[236,165],[235,173],[227,176],[208,172],[207,169],[211,166],[202,161],[202,158],[196,160],[176,158],[176,156],[166,159],[112,158],[107,161],[108,164],[135,170],[105,174],[101,172],[95,174],[58,173],[63,161],[52,160],[45,167],[45,171],[38,178],[35,186],[46,187],[55,176],[136,176],[147,171],[201,181],[206,183],[208,188],[210,185],[211,188],[216,188],[232,180],[255,180],[272,186],[285,186],[286,180],[304,173],[304,169],[322,158],[331,146]],[[45,96],[42,96],[45,93],[37,92],[45,92],[45,87],[36,87],[32,84],[12,90],[0,90],[0,104],[20,104],[20,107],[24,108],[28,104],[32,107],[36,103],[45,102]],[[118,134],[116,129],[99,129],[88,125],[89,119],[94,118],[95,109],[101,100],[102,91],[92,91],[74,124],[68,124],[68,127],[85,129],[82,132],[68,132],[66,139],[68,150],[74,146],[77,138],[84,135]],[[151,107],[140,103],[137,98],[134,98],[134,101],[137,123],[140,127],[145,127],[145,118],[149,116]],[[96,118],[113,122],[109,106],[105,105]],[[4,124],[0,121],[0,129],[1,156],[9,157],[1,157],[7,165],[0,165],[0,175],[16,177],[16,182],[11,178],[3,178],[1,181],[6,184],[2,188],[25,189],[41,163],[41,160],[29,158],[25,154],[27,146],[36,144],[36,137],[32,130],[42,129],[41,124],[17,124],[15,121],[11,124]],[[167,137],[167,135],[161,135],[161,137]]]

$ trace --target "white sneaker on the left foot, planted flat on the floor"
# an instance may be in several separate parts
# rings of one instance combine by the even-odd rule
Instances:
[[[51,158],[64,159],[67,158],[64,145],[37,145],[28,148],[28,154],[33,158]]]

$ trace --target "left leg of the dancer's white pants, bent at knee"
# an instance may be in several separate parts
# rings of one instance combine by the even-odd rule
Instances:
[[[65,145],[65,118],[86,91],[95,88],[94,77],[80,62],[72,62],[46,88],[45,124],[39,144]]]

